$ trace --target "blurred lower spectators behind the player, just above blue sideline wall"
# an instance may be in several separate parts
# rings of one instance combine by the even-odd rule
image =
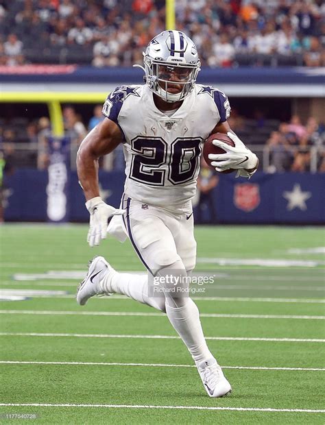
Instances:
[[[73,106],[63,108],[65,136],[71,140],[71,169],[75,168],[75,155],[80,142],[104,117],[101,105],[95,106],[93,117],[84,123]],[[325,172],[325,125],[313,117],[304,123],[297,115],[289,122],[266,119],[263,114],[254,119],[246,119],[232,110],[228,119],[230,127],[250,145],[261,158],[264,171],[269,173],[311,171],[313,149],[320,149],[315,157],[314,170]],[[28,121],[14,118],[10,121],[0,119],[0,146],[12,167],[34,167],[47,169],[49,165],[48,138],[51,124],[47,117]],[[18,142],[18,143],[17,143]],[[263,145],[261,145],[263,143]],[[123,149],[120,145],[112,154],[101,158],[101,168],[124,171]]]

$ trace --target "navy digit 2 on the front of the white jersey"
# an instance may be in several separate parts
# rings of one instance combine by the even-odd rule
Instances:
[[[129,177],[153,186],[163,186],[165,170],[158,170],[158,167],[166,162],[166,142],[160,137],[137,137],[131,143],[136,154],[132,158]]]

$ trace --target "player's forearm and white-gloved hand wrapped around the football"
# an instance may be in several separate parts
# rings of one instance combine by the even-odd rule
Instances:
[[[213,129],[211,134],[224,133],[232,139],[234,147],[227,145],[223,141],[213,141],[213,144],[221,147],[227,153],[226,154],[210,154],[209,158],[214,161],[211,165],[216,168],[217,171],[224,171],[226,169],[238,169],[236,177],[248,177],[255,173],[258,168],[258,158],[250,151],[240,138],[231,130],[228,121],[219,122]],[[212,158],[213,156],[213,158]]]

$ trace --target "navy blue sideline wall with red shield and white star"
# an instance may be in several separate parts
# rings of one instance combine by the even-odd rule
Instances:
[[[108,204],[119,206],[124,178],[123,172],[100,172],[101,196]],[[47,171],[17,170],[5,177],[3,193],[5,221],[51,221]],[[64,193],[66,210],[58,221],[88,221],[76,173],[69,173]],[[258,173],[251,180],[221,175],[211,197],[215,212],[207,203],[200,206],[202,222],[325,223],[325,174]]]

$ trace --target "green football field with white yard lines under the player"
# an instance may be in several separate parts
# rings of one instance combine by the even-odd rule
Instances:
[[[0,422],[323,424],[324,228],[197,227],[193,297],[232,384],[208,398],[166,315],[112,295],[84,307],[88,260],[143,271],[130,243],[86,225],[0,226]],[[36,416],[36,419],[33,419]]]

